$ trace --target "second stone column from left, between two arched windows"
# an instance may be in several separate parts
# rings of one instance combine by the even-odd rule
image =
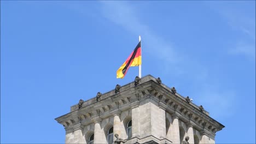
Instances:
[[[106,143],[106,136],[101,128],[101,118],[94,119],[94,123],[94,143]]]

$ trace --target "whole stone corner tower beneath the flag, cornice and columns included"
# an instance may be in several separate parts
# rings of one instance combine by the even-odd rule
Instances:
[[[112,143],[114,134],[126,143],[215,143],[224,125],[202,106],[151,75],[71,106],[56,118],[66,130],[66,143]]]

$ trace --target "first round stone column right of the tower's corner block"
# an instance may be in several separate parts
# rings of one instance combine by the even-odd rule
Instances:
[[[179,140],[179,117],[174,113],[172,119],[172,142],[181,143],[181,140]]]

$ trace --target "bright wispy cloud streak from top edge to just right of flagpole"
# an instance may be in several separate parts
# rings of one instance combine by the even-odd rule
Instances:
[[[181,61],[182,56],[177,57],[173,44],[154,34],[151,29],[136,14],[136,9],[125,1],[102,1],[102,13],[108,20],[124,27],[132,34],[142,35],[143,43],[147,49],[144,52],[164,60],[167,64],[176,64]],[[161,47],[161,48],[159,48]]]

